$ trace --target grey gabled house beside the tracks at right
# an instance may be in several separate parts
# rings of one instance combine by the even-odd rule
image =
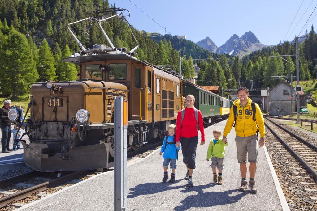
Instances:
[[[307,108],[306,96],[299,92],[300,108]],[[289,83],[282,81],[268,90],[268,113],[270,115],[289,115],[297,112],[297,92]]]

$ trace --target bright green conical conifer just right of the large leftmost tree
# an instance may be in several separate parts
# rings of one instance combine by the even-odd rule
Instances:
[[[44,38],[42,44],[39,47],[39,60],[37,64],[37,71],[39,73],[38,82],[45,80],[55,80],[55,59],[49,44]]]

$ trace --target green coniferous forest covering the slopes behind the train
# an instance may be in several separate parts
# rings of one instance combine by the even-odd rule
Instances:
[[[111,2],[110,2],[111,3]],[[28,84],[44,80],[75,80],[79,67],[61,62],[80,50],[66,24],[89,16],[98,9],[115,8],[108,0],[0,0],[0,94],[22,96],[29,91]],[[128,9],[128,8],[126,8]],[[131,14],[133,16],[133,14]],[[127,18],[128,19],[128,18]],[[133,23],[131,23],[133,25]],[[136,46],[128,26],[119,18],[102,23],[115,47]],[[91,22],[76,24],[72,30],[86,48],[94,44],[108,45],[101,31]],[[177,36],[150,38],[132,27],[139,42],[136,57],[154,65],[170,65],[178,71],[179,40]],[[299,45],[300,80],[316,79],[317,37],[314,27],[306,32],[307,39]],[[198,47],[190,40],[181,41],[182,75],[194,76],[191,59],[209,58],[199,62],[198,85],[218,85],[220,89],[241,86],[254,88],[272,87],[278,80],[271,76],[296,75],[295,43],[284,42],[264,47],[242,59],[228,54],[215,54]]]

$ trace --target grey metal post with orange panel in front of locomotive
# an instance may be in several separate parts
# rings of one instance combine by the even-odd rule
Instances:
[[[114,100],[114,210],[126,210],[126,126],[123,97]]]

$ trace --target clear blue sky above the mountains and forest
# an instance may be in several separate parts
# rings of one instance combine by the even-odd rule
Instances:
[[[131,0],[163,27],[161,28],[129,0],[108,1],[110,5],[115,3],[116,7],[128,9],[131,16],[127,17],[127,20],[139,30],[164,34],[163,28],[166,28],[167,34],[172,36],[186,35],[186,39],[193,42],[198,42],[208,36],[218,47],[223,45],[233,34],[241,37],[247,31],[252,31],[264,45],[278,44],[284,40],[302,3],[302,0]],[[293,40],[294,36],[300,33],[317,5],[316,0],[311,2],[311,0],[303,1],[285,40]],[[308,22],[316,14],[317,8]],[[311,26],[315,27],[316,23],[317,17],[303,29],[300,35],[304,34],[306,29],[310,31]]]

